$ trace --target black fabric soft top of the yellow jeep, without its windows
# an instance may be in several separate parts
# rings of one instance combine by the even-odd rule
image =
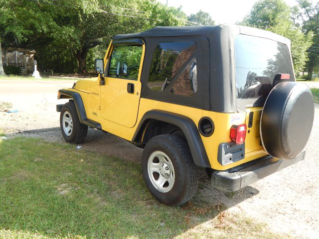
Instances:
[[[141,97],[162,102],[195,107],[214,112],[245,111],[246,107],[262,106],[259,98],[237,100],[235,69],[235,37],[238,34],[268,38],[284,43],[290,49],[290,40],[270,31],[240,25],[215,26],[175,26],[155,27],[153,29],[133,33],[115,35],[113,44],[147,45],[144,66],[141,73]],[[139,39],[143,41],[139,41]],[[196,43],[194,57],[197,60],[198,93],[192,97],[170,94],[169,91],[156,92],[148,87],[149,72],[153,52],[160,42],[193,41]]]

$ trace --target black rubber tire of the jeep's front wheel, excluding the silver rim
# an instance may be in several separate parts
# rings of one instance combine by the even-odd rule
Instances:
[[[64,114],[71,116],[73,127],[70,131],[70,135],[67,135],[63,127]],[[60,114],[60,127],[63,137],[69,143],[83,143],[88,132],[88,126],[80,123],[76,107],[73,102],[68,102],[62,107]]]

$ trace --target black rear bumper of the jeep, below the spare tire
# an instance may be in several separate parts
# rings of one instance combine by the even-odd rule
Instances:
[[[305,154],[306,152],[303,151],[296,158],[279,160],[272,156],[265,156],[226,171],[214,171],[211,184],[215,188],[234,192],[303,160]]]

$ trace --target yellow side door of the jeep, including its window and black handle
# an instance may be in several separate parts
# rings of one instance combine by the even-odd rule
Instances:
[[[101,115],[126,127],[136,124],[142,84],[144,45],[114,45],[101,86]]]

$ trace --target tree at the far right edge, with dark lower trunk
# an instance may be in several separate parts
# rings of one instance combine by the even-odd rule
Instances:
[[[319,67],[319,2],[313,5],[309,0],[298,0],[298,3],[297,19],[303,21],[305,33],[314,33],[313,44],[308,49],[309,60],[306,66],[308,71],[307,80],[312,80],[315,69]]]

